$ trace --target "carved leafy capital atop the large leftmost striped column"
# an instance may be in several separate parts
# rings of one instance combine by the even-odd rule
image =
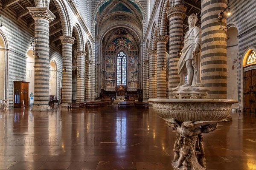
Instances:
[[[44,18],[51,23],[55,19],[55,15],[47,7],[27,7],[29,15],[35,20],[35,18]]]

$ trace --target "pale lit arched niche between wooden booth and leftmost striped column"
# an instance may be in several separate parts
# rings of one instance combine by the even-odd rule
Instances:
[[[26,82],[29,82],[29,96],[30,104],[34,103],[34,86],[35,86],[35,51],[33,49],[29,49],[27,51],[27,61],[26,61]]]

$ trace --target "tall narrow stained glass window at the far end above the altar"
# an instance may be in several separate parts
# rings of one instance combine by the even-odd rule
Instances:
[[[126,85],[126,55],[120,52],[117,55],[116,85]]]

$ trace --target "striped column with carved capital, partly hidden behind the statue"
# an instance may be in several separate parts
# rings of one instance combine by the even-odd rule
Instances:
[[[175,5],[167,10],[169,20],[169,98],[172,98],[172,88],[180,83],[177,63],[178,51],[181,51],[180,37],[183,36],[183,19],[186,17],[186,6]]]

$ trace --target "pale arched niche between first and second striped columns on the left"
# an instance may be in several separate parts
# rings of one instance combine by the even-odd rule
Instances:
[[[55,100],[57,97],[56,94],[56,79],[57,79],[57,68],[54,61],[50,62],[50,99]]]

